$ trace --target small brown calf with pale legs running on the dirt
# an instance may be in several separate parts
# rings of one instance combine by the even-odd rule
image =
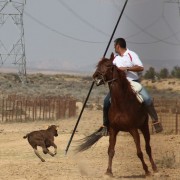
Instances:
[[[54,156],[57,154],[57,146],[54,144],[54,136],[58,136],[57,127],[55,125],[49,126],[46,130],[33,131],[28,133],[23,138],[27,138],[29,144],[34,149],[35,154],[41,159],[42,162],[45,160],[40,156],[37,150],[37,146],[41,146],[44,154],[50,154]],[[54,147],[54,154],[49,151],[48,147]]]

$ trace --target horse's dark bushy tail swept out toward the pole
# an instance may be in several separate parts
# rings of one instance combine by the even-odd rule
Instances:
[[[76,148],[76,152],[82,152],[82,151],[89,149],[92,145],[94,145],[103,136],[104,135],[99,130],[92,133],[89,136],[86,136],[85,138],[83,138],[79,141],[82,144]]]

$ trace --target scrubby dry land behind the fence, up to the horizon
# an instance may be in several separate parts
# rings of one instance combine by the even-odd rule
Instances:
[[[27,83],[21,83],[17,73],[0,73],[0,93],[28,96],[59,96],[70,94],[84,101],[92,84],[91,75],[62,73],[54,71],[32,72],[27,74]],[[142,80],[142,84],[152,96],[177,98],[180,96],[180,79]],[[103,101],[108,86],[94,86],[90,100]]]

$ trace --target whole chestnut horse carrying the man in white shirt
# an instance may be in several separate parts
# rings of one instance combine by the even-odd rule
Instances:
[[[150,175],[148,167],[144,162],[143,153],[140,147],[140,135],[138,129],[142,132],[145,139],[146,153],[154,172],[157,167],[154,163],[150,146],[150,133],[148,126],[148,114],[142,103],[137,100],[125,72],[119,70],[113,65],[114,55],[110,59],[103,58],[97,65],[93,78],[97,85],[108,83],[111,94],[111,106],[108,112],[109,117],[109,162],[106,174],[112,174],[112,159],[115,154],[116,136],[119,131],[129,132],[134,138],[136,144],[137,156],[142,162],[146,175]],[[102,134],[98,131],[85,137],[83,143],[78,147],[78,151],[84,151],[96,143]]]

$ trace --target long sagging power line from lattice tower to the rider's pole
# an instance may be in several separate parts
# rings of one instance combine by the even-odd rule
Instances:
[[[33,21],[35,21],[36,23],[38,23],[39,25],[41,25],[42,27],[60,35],[60,36],[63,36],[65,38],[68,38],[68,39],[72,39],[72,40],[75,40],[75,41],[79,41],[79,42],[82,42],[82,43],[89,43],[89,44],[102,44],[102,43],[106,43],[106,41],[104,42],[100,42],[100,41],[88,41],[88,40],[83,40],[83,39],[79,39],[79,38],[76,38],[76,37],[73,37],[73,36],[70,36],[70,35],[67,35],[67,34],[64,34],[62,32],[59,32],[58,30],[48,26],[47,24],[41,22],[40,20],[38,20],[37,18],[35,18],[34,16],[32,16],[30,13],[28,13],[27,11],[24,11],[24,14],[26,16],[28,16],[30,19],[32,19]]]

